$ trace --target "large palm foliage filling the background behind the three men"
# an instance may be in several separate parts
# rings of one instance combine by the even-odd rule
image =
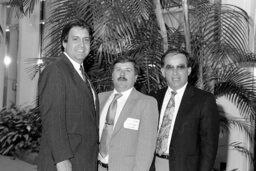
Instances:
[[[24,2],[33,6],[37,1]],[[76,18],[93,28],[92,51],[85,65],[98,92],[111,89],[109,66],[120,55],[132,56],[141,64],[137,88],[145,93],[155,91],[166,85],[160,73],[161,55],[167,48],[186,48],[195,60],[190,81],[216,98],[225,96],[244,119],[236,120],[221,111],[221,127],[228,131],[237,126],[253,141],[255,80],[247,69],[256,56],[249,51],[249,17],[244,10],[208,0],[189,4],[186,0],[47,2],[50,13],[40,68],[61,53],[62,27]],[[235,147],[240,148],[237,143]]]

